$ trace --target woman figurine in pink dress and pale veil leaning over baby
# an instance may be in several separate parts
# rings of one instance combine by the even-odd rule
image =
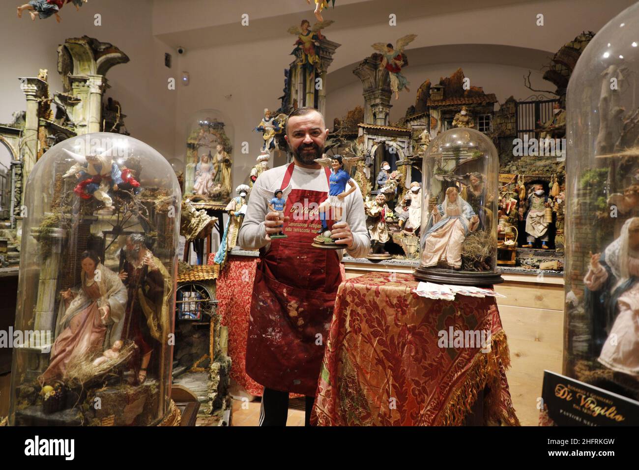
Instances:
[[[127,305],[127,288],[93,251],[80,255],[81,288],[61,292],[64,316],[58,324],[49,367],[40,384],[65,379],[72,364],[91,361],[120,339]],[[66,311],[65,311],[66,310]]]

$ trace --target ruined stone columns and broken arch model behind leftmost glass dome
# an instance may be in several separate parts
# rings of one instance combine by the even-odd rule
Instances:
[[[124,115],[119,103],[110,100],[103,107],[102,100],[109,88],[105,75],[114,65],[128,61],[127,55],[110,43],[88,36],[68,38],[58,47],[63,91],[51,97],[47,70],[40,70],[37,77],[19,78],[27,109],[14,113],[11,123],[0,125],[0,143],[12,155],[12,228],[22,219],[24,183],[44,152],[69,137],[121,130]]]

